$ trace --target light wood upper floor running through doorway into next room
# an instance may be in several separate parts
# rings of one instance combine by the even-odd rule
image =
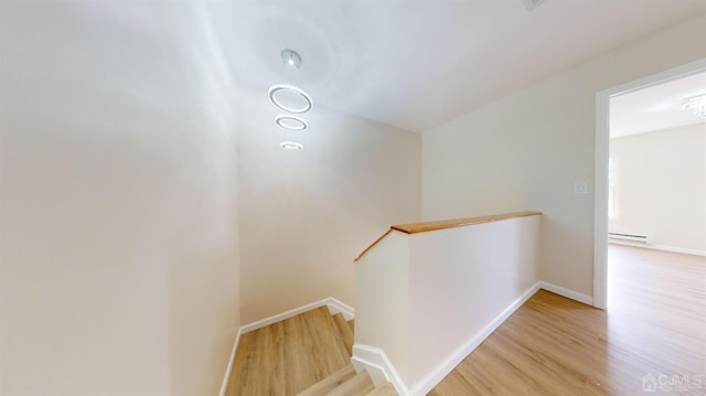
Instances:
[[[706,258],[609,256],[608,310],[541,290],[429,395],[706,395]]]

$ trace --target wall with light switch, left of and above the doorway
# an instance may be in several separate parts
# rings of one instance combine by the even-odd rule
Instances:
[[[543,212],[541,278],[591,296],[593,189],[573,182],[593,180],[596,93],[706,57],[704,35],[695,17],[425,132],[422,220]]]

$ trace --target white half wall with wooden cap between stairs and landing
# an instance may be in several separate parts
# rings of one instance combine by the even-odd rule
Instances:
[[[541,215],[391,227],[355,260],[356,370],[431,390],[539,288]]]

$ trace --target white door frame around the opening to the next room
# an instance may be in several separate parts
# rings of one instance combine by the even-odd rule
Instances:
[[[706,58],[635,79],[596,94],[596,169],[593,196],[593,307],[606,309],[608,297],[608,153],[610,98],[706,71]]]

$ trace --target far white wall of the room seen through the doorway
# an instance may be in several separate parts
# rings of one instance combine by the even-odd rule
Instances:
[[[611,233],[706,254],[706,125],[610,140],[618,216]]]

